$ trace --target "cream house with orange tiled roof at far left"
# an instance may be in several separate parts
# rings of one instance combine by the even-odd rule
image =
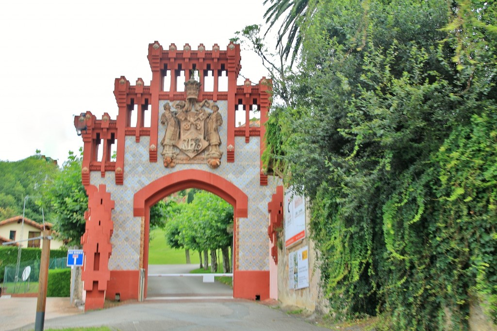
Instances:
[[[45,222],[45,224],[37,223],[29,218],[22,216],[14,216],[0,221],[0,242],[9,242],[16,240],[25,240],[29,238],[40,237],[43,229],[52,230],[52,223]],[[36,247],[42,248],[42,240],[29,240],[19,242],[21,247]],[[53,238],[50,241],[50,249],[56,250],[61,248],[64,243],[61,240]]]

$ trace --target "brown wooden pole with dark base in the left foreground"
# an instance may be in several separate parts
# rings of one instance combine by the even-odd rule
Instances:
[[[45,306],[47,303],[48,265],[50,263],[50,230],[43,231],[41,248],[40,277],[38,285],[38,303],[36,304],[35,331],[43,331],[45,324]]]

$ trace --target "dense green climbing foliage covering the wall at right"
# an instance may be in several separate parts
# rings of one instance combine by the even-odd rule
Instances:
[[[305,2],[266,161],[310,199],[332,314],[467,330],[480,300],[497,320],[496,4]]]

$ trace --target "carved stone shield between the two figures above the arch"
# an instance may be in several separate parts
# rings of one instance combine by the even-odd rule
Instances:
[[[180,134],[174,145],[190,158],[209,146],[209,142],[204,139],[206,118],[207,113],[204,110],[190,111],[178,116]]]

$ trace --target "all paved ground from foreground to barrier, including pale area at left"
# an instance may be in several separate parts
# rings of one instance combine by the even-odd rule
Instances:
[[[193,266],[196,267],[196,266]],[[173,267],[171,267],[173,268]],[[167,283],[162,287],[161,282]],[[149,278],[149,297],[117,307],[83,313],[69,307],[69,298],[48,298],[45,329],[108,326],[119,331],[325,331],[296,316],[260,302],[233,299],[231,288],[202,283],[201,277],[183,280]],[[207,289],[201,289],[201,287]],[[210,287],[209,287],[210,286]],[[214,286],[214,287],[213,287]],[[166,291],[166,288],[175,292]],[[210,289],[209,289],[210,288]],[[185,295],[190,294],[190,295]],[[227,295],[228,294],[228,295]],[[199,298],[203,297],[203,298]],[[0,331],[33,330],[36,298],[1,298]]]

